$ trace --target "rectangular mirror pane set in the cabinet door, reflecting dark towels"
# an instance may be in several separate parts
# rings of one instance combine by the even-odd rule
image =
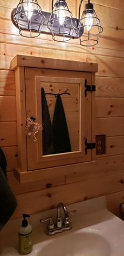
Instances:
[[[79,151],[79,86],[40,81],[43,156]]]

